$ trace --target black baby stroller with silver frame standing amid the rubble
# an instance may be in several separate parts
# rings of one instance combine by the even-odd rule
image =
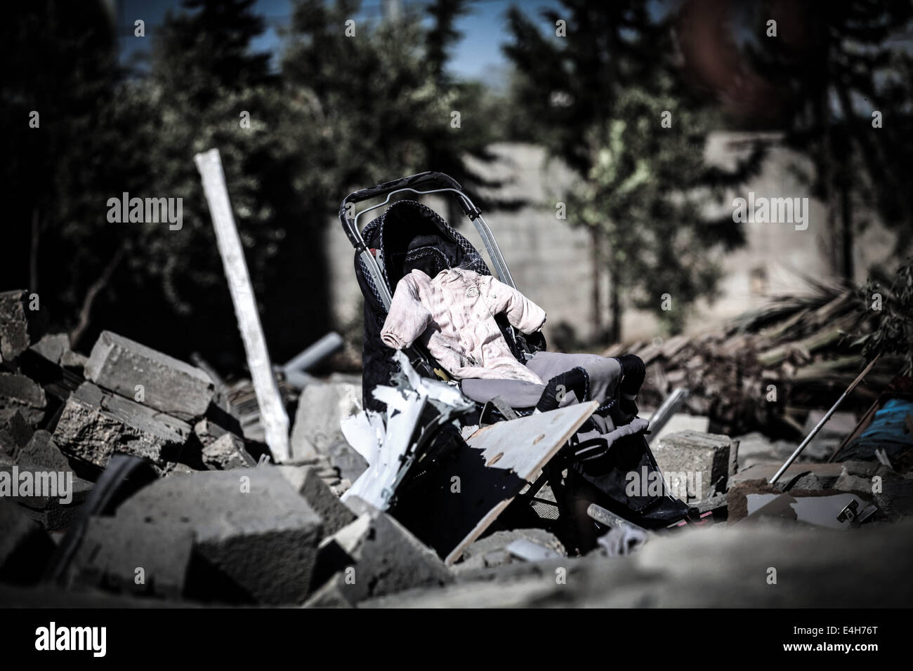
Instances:
[[[467,238],[430,207],[415,200],[397,200],[390,204],[394,195],[404,193],[455,197],[476,227],[491,268]],[[357,204],[375,198],[384,200],[356,214]],[[359,218],[362,215],[388,204],[382,215],[360,231]],[[384,404],[374,397],[373,390],[378,385],[390,384],[401,372],[397,357],[394,357],[395,351],[383,344],[380,336],[394,289],[401,278],[415,268],[433,278],[442,269],[463,267],[479,275],[491,275],[493,270],[495,277],[504,284],[511,288],[516,288],[516,285],[481,212],[459,183],[444,173],[419,173],[349,194],[341,203],[340,221],[355,249],[355,274],[364,297],[362,400],[365,409],[383,412]],[[540,332],[531,335],[520,333],[510,326],[504,315],[499,315],[496,320],[519,362],[525,363],[535,352],[546,349],[545,338]],[[449,380],[443,366],[417,342],[404,353],[420,375],[459,388],[460,383]],[[655,492],[642,496],[644,492],[629,495],[626,491],[625,474],[658,474],[659,468],[647,445],[643,428],[626,435],[624,431],[625,426],[633,426],[637,410],[633,402],[622,397],[621,390],[624,389],[628,397],[632,392],[636,393],[644,381],[643,362],[634,356],[622,357],[620,362],[623,378],[618,384],[616,396],[603,403],[587,425],[582,426],[551,459],[541,476],[511,504],[509,514],[505,511],[502,517],[516,518],[506,519],[506,525],[528,525],[530,519],[531,523],[539,520],[540,526],[553,530],[566,546],[585,551],[592,548],[595,538],[607,530],[604,521],[597,522],[586,515],[587,504],[591,502],[642,529],[662,529],[687,519],[687,505],[669,495],[665,485],[658,496]],[[423,449],[436,452],[424,458],[422,467],[415,467],[415,472],[410,471],[397,487],[391,513],[419,538],[423,538],[423,529],[434,526],[434,510],[427,509],[427,505],[416,505],[421,503],[418,499],[423,491],[419,485],[423,478],[434,472],[436,464],[446,460],[448,451],[465,446],[455,427],[509,422],[537,410],[547,412],[558,407],[565,390],[575,393],[581,403],[588,401],[588,382],[586,371],[575,368],[549,380],[540,398],[534,402],[523,399],[518,405],[517,399],[494,397],[467,403],[473,409],[459,414],[452,425],[441,426],[436,435],[425,436]],[[602,418],[603,427],[608,423],[621,429],[610,445],[606,445],[605,440],[583,437],[593,435],[593,420],[599,418]],[[637,422],[645,424],[643,420]],[[536,495],[546,484],[551,487],[554,500],[537,498]],[[425,519],[415,518],[416,509],[424,510]],[[530,511],[534,513],[532,518],[529,517]]]

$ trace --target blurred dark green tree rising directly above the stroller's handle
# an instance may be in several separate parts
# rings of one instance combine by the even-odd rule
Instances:
[[[467,156],[491,158],[495,129],[480,101],[483,91],[446,72],[458,37],[453,23],[466,5],[433,3],[429,27],[412,10],[373,21],[359,17],[357,1],[296,3],[282,73],[319,110],[320,133],[339,161],[341,181],[327,192],[336,206],[346,187],[425,170],[451,174],[470,192],[497,185],[466,165]],[[485,204],[477,194],[474,200]]]

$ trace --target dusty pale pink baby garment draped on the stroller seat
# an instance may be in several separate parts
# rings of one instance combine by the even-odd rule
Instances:
[[[542,384],[510,352],[494,319],[500,312],[524,333],[540,330],[545,323],[545,310],[491,276],[451,268],[432,279],[416,269],[396,285],[381,340],[395,350],[422,342],[456,379]]]

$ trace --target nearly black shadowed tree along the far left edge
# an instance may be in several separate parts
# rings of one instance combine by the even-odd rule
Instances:
[[[107,200],[135,184],[134,110],[119,100],[113,17],[100,2],[10,5],[0,26],[6,288],[79,330],[124,253]],[[34,116],[33,116],[34,113]]]

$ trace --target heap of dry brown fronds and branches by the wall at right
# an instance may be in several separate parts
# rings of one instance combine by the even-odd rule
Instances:
[[[603,355],[624,351],[644,360],[641,397],[648,406],[685,387],[689,412],[708,416],[711,431],[795,437],[809,410],[833,403],[863,368],[855,341],[870,327],[854,288],[818,283],[806,296],[773,298],[725,328],[618,344]],[[883,358],[866,383],[880,390],[899,369],[897,360]],[[857,390],[859,398],[865,394],[864,387]]]

